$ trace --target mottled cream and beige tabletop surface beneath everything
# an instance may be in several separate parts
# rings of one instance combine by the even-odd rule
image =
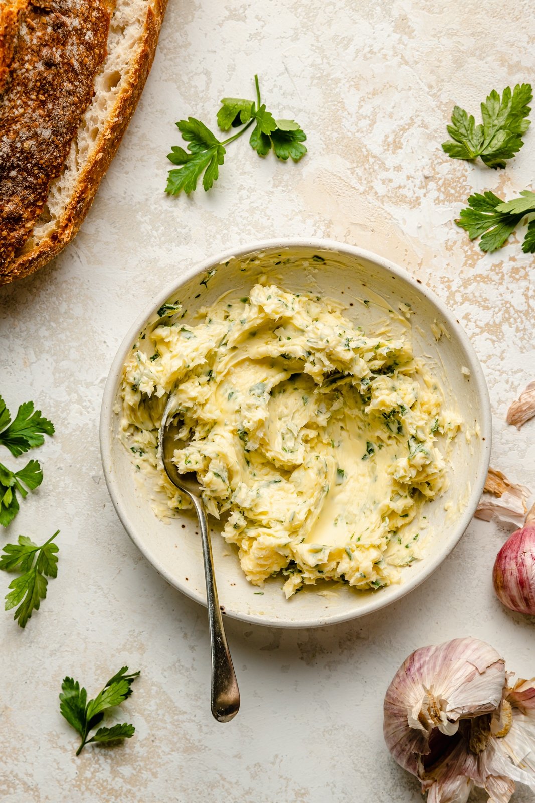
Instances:
[[[456,312],[491,388],[492,463],[535,490],[535,421],[518,433],[504,420],[535,374],[533,255],[513,238],[484,256],[452,222],[472,190],[533,186],[535,127],[501,172],[440,149],[454,103],[475,112],[492,88],[535,83],[534,35],[530,0],[169,0],[144,96],[83,229],[54,264],[0,291],[0,393],[11,410],[35,399],[57,428],[31,455],[43,486],[1,543],[61,529],[59,577],[41,610],[24,631],[0,615],[2,801],[416,803],[418,785],[381,732],[403,658],[472,634],[535,675],[533,621],[502,609],[490,585],[506,533],[474,522],[427,583],[381,613],[289,632],[227,621],[242,707],[217,724],[205,610],[128,540],[98,446],[111,359],[160,287],[233,243],[325,235],[407,267]],[[221,96],[253,96],[255,71],[268,108],[306,130],[308,156],[261,161],[239,141],[210,194],[167,198],[175,120],[215,122]],[[123,663],[142,671],[117,718],[136,735],[75,758],[59,715],[63,676],[93,693]]]

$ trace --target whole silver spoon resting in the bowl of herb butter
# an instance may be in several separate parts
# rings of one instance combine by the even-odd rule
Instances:
[[[176,449],[185,446],[176,438],[176,427],[168,426],[172,422],[172,406],[174,399],[169,396],[161,420],[158,442],[164,469],[173,485],[184,491],[193,502],[199,528],[201,530],[202,553],[205,564],[206,600],[210,627],[210,647],[212,650],[212,692],[210,704],[212,713],[218,722],[229,722],[237,715],[240,707],[240,691],[237,687],[236,675],[229,646],[225,638],[221,609],[217,599],[216,580],[213,575],[212,543],[205,505],[201,499],[201,489],[193,473],[179,474],[172,456]],[[174,433],[173,433],[174,430]]]

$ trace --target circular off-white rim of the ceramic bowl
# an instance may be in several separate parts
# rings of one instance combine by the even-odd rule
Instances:
[[[147,304],[144,307],[143,311],[140,312],[140,315],[136,317],[136,320],[128,329],[128,332],[126,332],[124,335],[123,340],[121,340],[120,346],[116,352],[116,357],[114,357],[113,361],[111,362],[106,385],[103,390],[99,421],[100,455],[102,459],[104,479],[106,480],[111,503],[113,504],[113,507],[115,507],[116,514],[119,516],[121,524],[123,524],[124,529],[126,532],[128,532],[128,536],[130,536],[134,544],[136,544],[137,548],[140,549],[140,552],[144,555],[152,567],[156,569],[156,571],[160,573],[160,575],[164,577],[164,579],[168,581],[170,585],[194,601],[200,602],[201,605],[206,605],[204,594],[199,595],[193,592],[193,589],[186,589],[180,585],[177,585],[176,581],[168,572],[168,569],[166,569],[165,565],[160,563],[159,560],[156,560],[154,556],[148,553],[148,550],[145,548],[143,542],[136,535],[136,528],[132,526],[132,521],[128,514],[127,506],[124,505],[123,499],[121,498],[119,492],[119,485],[116,477],[114,476],[113,463],[111,459],[111,421],[113,417],[113,408],[116,402],[116,389],[124,361],[128,355],[128,352],[132,348],[132,342],[136,339],[137,332],[140,331],[140,328],[147,323],[152,313],[155,312],[156,309],[161,306],[161,304],[164,304],[169,296],[172,296],[173,293],[175,293],[190,279],[193,279],[194,276],[200,275],[213,267],[217,267],[217,265],[227,261],[228,259],[240,259],[245,255],[255,254],[261,251],[270,251],[278,248],[317,248],[325,251],[334,251],[345,254],[354,259],[367,259],[369,262],[375,263],[375,265],[378,265],[387,271],[391,271],[391,273],[399,277],[399,279],[407,281],[412,287],[415,288],[416,291],[421,293],[429,301],[431,301],[432,304],[435,305],[440,314],[444,317],[444,320],[447,321],[450,328],[455,330],[456,336],[460,340],[460,344],[464,348],[464,351],[468,357],[469,365],[467,367],[471,372],[471,379],[474,381],[476,386],[476,395],[479,397],[482,414],[480,420],[480,438],[482,443],[480,461],[482,471],[480,477],[477,483],[472,486],[472,491],[468,498],[467,506],[465,507],[464,513],[456,525],[455,538],[453,540],[449,540],[448,544],[445,544],[442,548],[437,550],[436,555],[429,560],[428,565],[425,567],[422,573],[419,573],[418,575],[411,577],[411,579],[408,579],[407,581],[397,585],[395,587],[395,592],[391,593],[388,597],[381,597],[379,594],[374,594],[370,597],[367,605],[363,605],[359,609],[349,611],[346,610],[342,613],[334,613],[334,615],[329,616],[328,618],[322,618],[320,616],[320,618],[309,618],[302,620],[279,620],[270,618],[269,616],[264,617],[254,613],[242,613],[240,611],[233,611],[225,608],[225,613],[227,613],[230,618],[238,619],[241,622],[247,622],[250,624],[282,628],[322,627],[326,625],[338,624],[340,622],[347,622],[351,619],[366,616],[368,613],[375,613],[375,611],[385,608],[387,605],[391,605],[392,603],[398,601],[407,593],[410,593],[418,585],[428,580],[432,573],[438,569],[440,564],[442,564],[448,555],[453,551],[453,549],[456,548],[456,545],[459,543],[461,537],[468,528],[468,524],[470,524],[472,520],[473,514],[476,511],[477,503],[479,502],[480,496],[483,493],[484,482],[487,476],[488,466],[490,464],[490,452],[492,447],[492,410],[488,386],[484,378],[484,373],[480,365],[479,358],[476,355],[476,351],[472,346],[468,335],[466,332],[464,332],[464,328],[460,325],[459,321],[456,320],[456,317],[453,315],[453,313],[448,310],[444,302],[440,300],[439,296],[436,295],[435,291],[427,287],[426,284],[422,283],[420,280],[417,281],[409,271],[399,267],[395,263],[392,263],[390,259],[385,259],[384,257],[375,254],[373,251],[367,251],[366,249],[347,243],[338,243],[336,240],[331,240],[328,238],[289,237],[259,240],[253,243],[246,243],[243,246],[225,249],[225,251],[221,251],[217,255],[211,256],[208,259],[203,259],[201,262],[194,263],[192,267],[189,267],[186,271],[181,273],[179,280],[174,279],[172,282],[168,283],[160,291],[160,293],[158,293],[156,298],[152,300],[150,304]]]

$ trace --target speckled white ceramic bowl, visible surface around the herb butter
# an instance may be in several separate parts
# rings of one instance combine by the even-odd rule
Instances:
[[[312,259],[314,256],[325,259]],[[237,553],[219,536],[219,524],[211,521],[217,589],[225,613],[246,622],[280,627],[314,627],[363,616],[403,597],[440,565],[468,527],[483,491],[491,447],[491,412],[484,375],[468,337],[458,321],[432,291],[386,259],[360,248],[327,240],[271,240],[227,251],[184,271],[180,280],[160,291],[125,336],[116,355],[103,395],[100,448],[111,500],[124,528],[135,544],[165,579],[188,597],[205,604],[205,579],[197,521],[184,513],[164,524],[156,519],[148,501],[136,491],[127,450],[116,438],[118,417],[113,408],[120,387],[124,361],[140,330],[157,319],[165,301],[180,299],[187,315],[211,304],[223,291],[243,295],[263,273],[293,291],[314,291],[347,304],[347,316],[373,331],[382,315],[375,304],[359,300],[381,296],[395,311],[407,302],[414,315],[413,349],[425,356],[440,376],[447,397],[455,397],[466,426],[480,437],[468,444],[463,434],[453,441],[450,487],[445,495],[425,506],[431,522],[423,560],[402,570],[399,585],[359,593],[349,587],[328,595],[305,589],[290,600],[282,593],[281,578],[265,583],[264,593],[245,580]],[[351,304],[351,306],[350,306]],[[385,309],[387,312],[387,309]],[[432,326],[447,334],[436,340]],[[434,367],[433,367],[434,366]],[[461,373],[468,369],[469,377]],[[447,512],[445,503],[451,502]],[[185,525],[185,528],[182,526]]]

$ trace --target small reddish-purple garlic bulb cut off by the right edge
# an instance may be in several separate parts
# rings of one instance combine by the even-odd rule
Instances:
[[[518,613],[535,614],[535,505],[524,527],[513,532],[498,552],[492,581],[504,605]]]

